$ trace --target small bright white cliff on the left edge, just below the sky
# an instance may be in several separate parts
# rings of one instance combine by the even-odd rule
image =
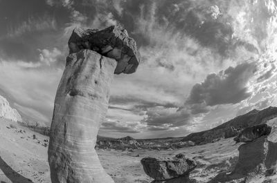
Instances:
[[[15,108],[10,106],[10,103],[5,97],[0,95],[0,117],[5,117],[14,122],[21,122],[21,116]]]

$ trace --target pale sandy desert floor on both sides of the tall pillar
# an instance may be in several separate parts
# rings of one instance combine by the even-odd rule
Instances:
[[[1,183],[50,183],[47,148],[43,146],[48,137],[20,126],[7,119],[0,119],[0,182]],[[33,139],[36,135],[37,139]],[[102,166],[116,183],[151,182],[145,175],[140,160],[151,156],[175,156],[186,153],[199,165],[190,174],[199,182],[208,182],[217,173],[230,171],[238,159],[238,146],[233,139],[222,139],[213,144],[181,148],[174,151],[98,150]],[[139,155],[139,157],[137,157]]]

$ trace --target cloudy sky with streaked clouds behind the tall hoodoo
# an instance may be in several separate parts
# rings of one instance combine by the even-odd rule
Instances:
[[[122,26],[142,55],[115,75],[100,135],[184,136],[276,106],[276,0],[0,0],[0,25],[0,93],[48,126],[77,26]]]

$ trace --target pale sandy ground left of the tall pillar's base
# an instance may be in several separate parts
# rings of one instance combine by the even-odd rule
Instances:
[[[51,182],[44,139],[48,137],[0,119],[0,182]]]

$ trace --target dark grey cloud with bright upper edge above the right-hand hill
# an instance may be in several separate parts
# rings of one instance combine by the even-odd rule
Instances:
[[[210,74],[201,84],[195,84],[186,104],[237,104],[251,96],[247,83],[256,73],[256,64],[244,63]]]

